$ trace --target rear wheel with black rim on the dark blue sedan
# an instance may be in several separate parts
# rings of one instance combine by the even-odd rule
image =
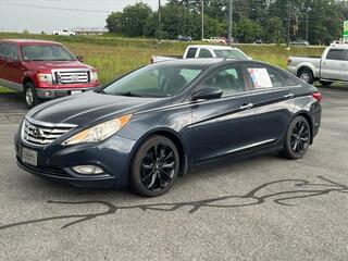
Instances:
[[[310,145],[311,130],[308,121],[303,116],[297,116],[288,126],[284,149],[281,156],[289,160],[301,159]]]

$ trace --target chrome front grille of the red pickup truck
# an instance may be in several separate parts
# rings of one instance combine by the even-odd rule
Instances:
[[[90,71],[79,70],[53,70],[53,82],[55,84],[89,84]]]

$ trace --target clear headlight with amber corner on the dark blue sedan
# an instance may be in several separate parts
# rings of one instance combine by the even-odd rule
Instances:
[[[66,146],[102,141],[123,128],[129,122],[130,117],[132,114],[98,124],[74,135],[70,139],[65,140],[62,145]]]

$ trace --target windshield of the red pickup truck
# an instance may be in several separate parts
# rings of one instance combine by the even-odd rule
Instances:
[[[59,45],[22,46],[23,61],[75,61],[76,58]]]

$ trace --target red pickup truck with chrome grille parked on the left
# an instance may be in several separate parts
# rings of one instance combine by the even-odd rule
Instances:
[[[0,86],[23,91],[28,108],[98,85],[96,70],[59,42],[0,40]]]

